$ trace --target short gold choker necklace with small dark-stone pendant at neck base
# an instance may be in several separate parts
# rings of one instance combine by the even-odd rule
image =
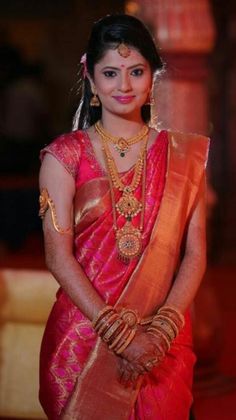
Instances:
[[[130,150],[130,146],[143,140],[149,131],[148,126],[144,125],[138,134],[128,139],[124,139],[123,137],[115,137],[109,134],[104,130],[100,121],[96,122],[94,128],[101,137],[106,139],[106,141],[113,143],[115,150],[120,154],[120,157],[125,157],[126,153]]]

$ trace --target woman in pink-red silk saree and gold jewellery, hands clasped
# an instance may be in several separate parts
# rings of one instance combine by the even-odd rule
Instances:
[[[189,418],[189,306],[205,269],[207,139],[150,128],[162,61],[127,15],[94,24],[74,131],[42,151],[41,349],[50,419]]]

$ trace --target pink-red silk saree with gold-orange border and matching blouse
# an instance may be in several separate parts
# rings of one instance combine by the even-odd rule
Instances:
[[[117,258],[106,174],[87,134],[61,136],[44,149],[75,179],[75,258],[106,303],[137,308],[148,316],[165,301],[204,174],[206,150],[203,137],[166,131],[157,136],[147,155],[143,254],[125,265]],[[133,168],[123,179],[128,183],[132,174]],[[118,223],[122,225],[122,217]],[[124,389],[117,356],[59,289],[42,342],[40,401],[49,419],[188,419],[194,361],[186,316],[162,364],[135,390]]]

